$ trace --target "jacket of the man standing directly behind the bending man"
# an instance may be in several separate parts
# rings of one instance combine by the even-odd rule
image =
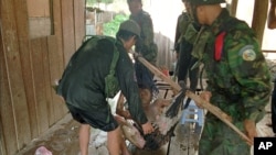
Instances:
[[[141,27],[141,40],[136,42],[135,51],[140,53],[148,62],[155,64],[157,60],[157,44],[155,43],[153,25],[150,14],[141,10],[137,15],[130,14]]]

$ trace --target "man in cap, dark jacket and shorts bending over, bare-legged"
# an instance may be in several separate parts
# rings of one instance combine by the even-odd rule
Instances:
[[[93,36],[72,56],[57,86],[72,117],[81,123],[81,155],[88,154],[89,129],[107,132],[110,155],[129,155],[118,122],[114,119],[107,98],[120,89],[129,103],[132,119],[145,134],[153,131],[141,107],[132,62],[128,52],[140,36],[139,25],[127,20],[109,36]]]

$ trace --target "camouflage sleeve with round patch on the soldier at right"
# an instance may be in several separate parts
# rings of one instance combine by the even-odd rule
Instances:
[[[259,121],[270,96],[270,76],[259,45],[253,35],[235,31],[224,38],[230,69],[241,86],[245,119]]]

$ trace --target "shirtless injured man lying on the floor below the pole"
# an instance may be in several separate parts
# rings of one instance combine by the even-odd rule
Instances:
[[[131,115],[127,110],[127,103],[125,103],[123,95],[120,95],[118,99],[116,109],[117,115],[115,118],[121,125],[125,139],[135,146],[141,150],[158,150],[169,142],[180,117],[178,115],[171,119],[167,118],[164,114],[164,111],[171,106],[172,100],[158,98],[152,101],[149,89],[140,88],[139,93],[142,108],[148,120],[155,126],[155,132],[142,135],[141,128],[131,120]]]

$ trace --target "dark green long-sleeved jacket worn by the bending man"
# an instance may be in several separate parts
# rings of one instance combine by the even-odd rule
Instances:
[[[132,62],[119,40],[109,36],[87,40],[71,57],[60,80],[57,95],[66,103],[84,110],[97,110],[94,103],[107,104],[105,77],[110,71],[115,48],[119,52],[115,67],[119,89],[128,101],[134,120],[144,124],[148,120],[141,107]]]

